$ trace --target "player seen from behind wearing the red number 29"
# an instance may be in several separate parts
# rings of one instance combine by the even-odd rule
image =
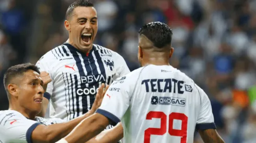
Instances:
[[[209,98],[169,64],[172,31],[152,22],[139,30],[139,68],[115,80],[94,115],[58,143],[84,142],[122,120],[124,142],[192,143],[195,128],[204,142],[224,142],[216,132]]]

